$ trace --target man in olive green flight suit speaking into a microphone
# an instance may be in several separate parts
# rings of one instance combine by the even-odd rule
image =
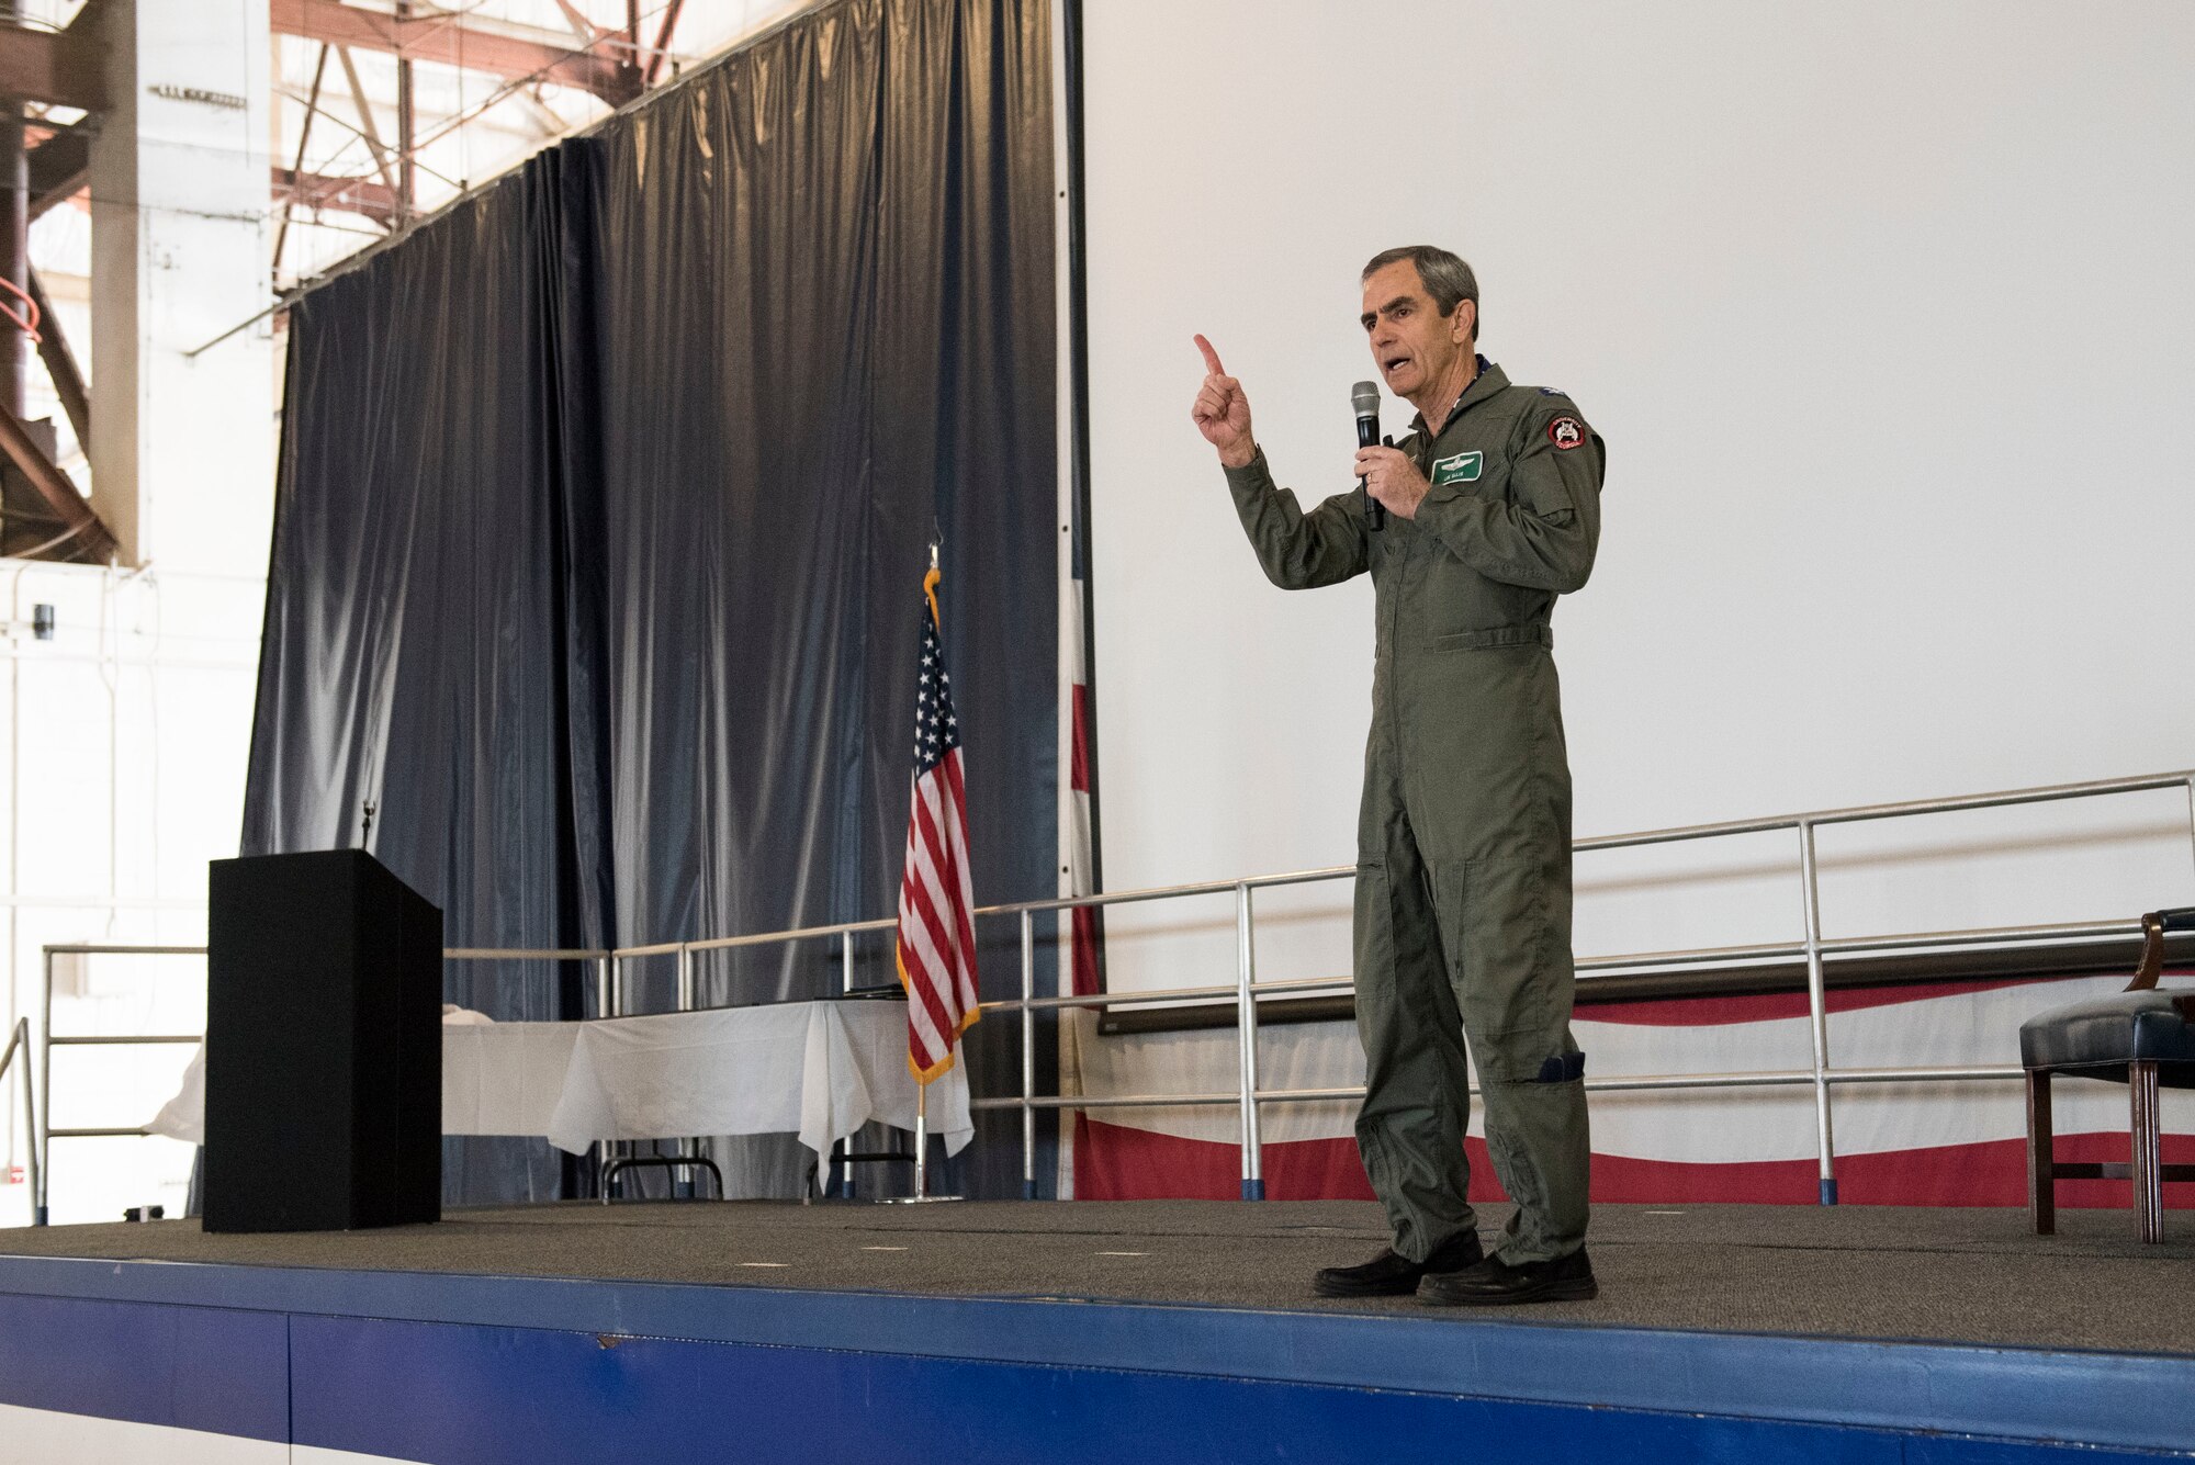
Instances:
[[[1569,1035],[1569,759],[1547,618],[1594,566],[1605,447],[1569,397],[1510,386],[1477,355],[1479,289],[1455,254],[1374,257],[1361,320],[1387,390],[1418,408],[1398,445],[1359,450],[1361,491],[1304,513],[1275,487],[1242,384],[1203,336],[1192,412],[1275,586],[1370,572],[1374,588],[1357,1147],[1394,1246],[1313,1285],[1451,1305],[1583,1301],[1598,1283],[1585,1254],[1585,1055]],[[1490,1257],[1466,1200],[1466,1037],[1486,1147],[1517,1202]]]

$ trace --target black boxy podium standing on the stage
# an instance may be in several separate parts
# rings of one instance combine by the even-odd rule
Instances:
[[[215,860],[206,1230],[441,1217],[441,910],[360,849]]]

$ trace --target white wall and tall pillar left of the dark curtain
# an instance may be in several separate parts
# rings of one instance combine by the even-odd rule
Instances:
[[[228,0],[108,13],[90,237],[48,215],[33,263],[90,270],[92,504],[114,570],[0,561],[0,1031],[40,1022],[48,943],[204,943],[206,862],[237,853],[274,504],[268,259],[268,18]],[[156,94],[151,88],[171,94]],[[241,96],[184,99],[191,88]],[[79,476],[79,487],[83,487]],[[33,605],[59,629],[33,640]],[[198,958],[94,956],[55,1033],[193,1033]],[[61,1048],[53,1121],[136,1127],[189,1061],[171,1048]],[[18,1075],[0,1088],[0,1226],[31,1217]],[[182,1211],[191,1149],[156,1138],[53,1143],[55,1222]]]

